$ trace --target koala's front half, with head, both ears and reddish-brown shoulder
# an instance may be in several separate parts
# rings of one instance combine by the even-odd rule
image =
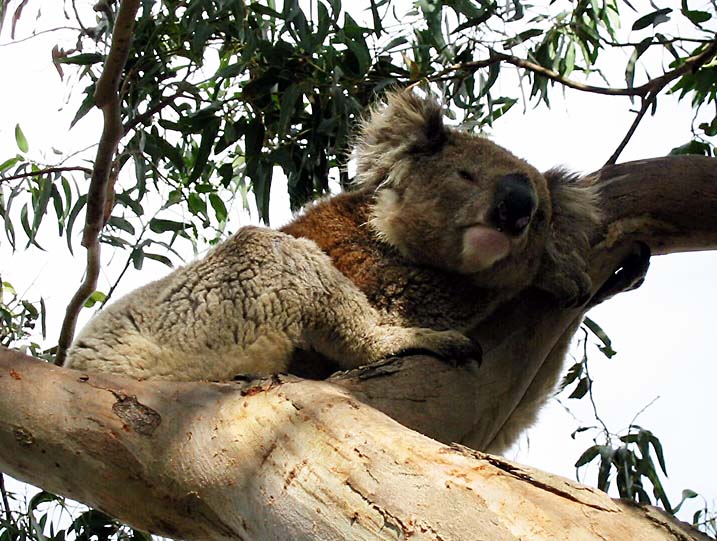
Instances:
[[[389,94],[361,126],[355,189],[282,231],[309,238],[396,325],[468,332],[532,286],[580,305],[596,195],[446,126],[439,104]]]

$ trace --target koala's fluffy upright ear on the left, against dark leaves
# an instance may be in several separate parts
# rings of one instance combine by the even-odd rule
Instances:
[[[433,154],[448,139],[441,106],[410,90],[393,92],[375,106],[361,125],[354,146],[360,187],[378,188],[398,182],[392,171],[406,158]]]

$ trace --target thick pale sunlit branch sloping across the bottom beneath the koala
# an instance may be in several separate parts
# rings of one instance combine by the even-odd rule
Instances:
[[[3,349],[0,388],[2,471],[160,535],[706,539],[655,509],[439,444],[323,382],[137,382]]]

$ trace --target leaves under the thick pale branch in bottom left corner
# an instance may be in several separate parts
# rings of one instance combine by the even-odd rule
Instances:
[[[32,498],[3,492],[3,500],[12,500],[14,510],[0,515],[0,541],[151,541],[152,536],[128,526],[95,509],[81,512],[66,507],[65,499],[40,491]],[[67,520],[56,520],[60,511]],[[66,524],[59,527],[59,523]]]

